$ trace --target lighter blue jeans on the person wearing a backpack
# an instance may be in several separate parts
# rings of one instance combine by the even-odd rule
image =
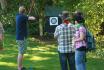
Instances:
[[[76,70],[86,70],[86,52],[75,51]]]

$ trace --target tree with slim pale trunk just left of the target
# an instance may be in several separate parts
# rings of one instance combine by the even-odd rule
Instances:
[[[43,36],[44,11],[45,11],[44,8],[45,8],[47,2],[49,2],[50,0],[31,0],[31,1],[32,1],[31,6],[33,6],[35,8],[35,11],[37,11],[37,15],[39,17],[39,34],[40,34],[40,36]],[[33,3],[34,3],[34,5],[33,5]],[[30,9],[30,11],[31,11],[31,9]]]

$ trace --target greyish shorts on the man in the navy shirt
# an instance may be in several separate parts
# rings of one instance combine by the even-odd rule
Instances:
[[[24,54],[27,50],[27,41],[25,40],[17,40],[18,51],[19,54]]]

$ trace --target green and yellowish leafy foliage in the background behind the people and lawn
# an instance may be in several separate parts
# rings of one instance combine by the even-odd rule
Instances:
[[[27,14],[31,5],[31,0],[7,0],[8,6],[6,11],[0,10],[0,21],[3,23],[5,32],[15,34],[15,16],[18,13],[19,4],[26,6]],[[100,25],[104,22],[104,0],[36,0],[36,7],[39,14],[44,14],[44,7],[46,4],[54,5],[58,8],[74,12],[80,10],[84,13],[86,25],[88,29],[94,34],[97,43],[96,55],[104,56],[104,36],[99,35],[101,31]],[[30,15],[36,15],[32,10]],[[44,23],[44,15],[42,17]],[[39,22],[29,22],[29,33],[32,35],[39,35]],[[103,30],[102,30],[103,31]]]

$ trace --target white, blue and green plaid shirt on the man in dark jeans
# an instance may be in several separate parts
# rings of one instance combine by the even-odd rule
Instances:
[[[58,41],[58,51],[60,53],[74,52],[74,34],[75,27],[73,24],[60,24],[56,27],[54,37]]]

